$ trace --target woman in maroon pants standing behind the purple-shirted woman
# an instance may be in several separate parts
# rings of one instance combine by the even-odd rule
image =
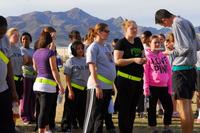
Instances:
[[[30,47],[32,37],[28,32],[21,35],[20,42],[22,44],[21,54],[26,56],[28,60],[22,66],[23,72],[23,95],[20,100],[20,116],[24,124],[35,121],[35,94],[33,92],[33,83],[35,82],[36,72],[33,69],[32,57],[34,50]]]

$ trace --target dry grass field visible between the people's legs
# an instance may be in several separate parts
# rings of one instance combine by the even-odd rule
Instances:
[[[61,73],[61,79],[63,81],[64,84],[64,76]],[[64,84],[65,85],[65,84]],[[62,101],[61,104],[57,105],[57,112],[56,112],[56,124],[57,124],[57,128],[58,131],[55,133],[60,133],[60,121],[61,121],[61,117],[63,114],[63,103],[64,103],[64,99]],[[195,110],[195,104],[193,104],[193,109]],[[113,122],[115,124],[115,127],[117,129],[118,132],[118,119],[117,119],[117,114],[113,115]],[[157,118],[157,122],[158,122],[158,129],[160,131],[162,131],[163,129],[163,125],[162,125],[162,118],[158,117]],[[22,121],[20,119],[17,119],[17,123],[16,123],[17,127],[21,130],[21,133],[34,133],[34,128],[35,128],[35,124],[29,124],[29,125],[24,125],[22,123]],[[134,124],[134,133],[149,133],[149,128],[147,126],[147,118],[136,118],[135,119],[135,124]],[[179,118],[173,118],[173,122],[172,122],[172,130],[174,131],[174,133],[180,133],[180,121]],[[72,133],[81,133],[81,130],[72,130]],[[106,133],[106,131],[105,131]],[[200,133],[200,124],[198,123],[194,123],[194,133]]]

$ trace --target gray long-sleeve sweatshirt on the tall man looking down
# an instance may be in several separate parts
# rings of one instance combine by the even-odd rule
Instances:
[[[194,27],[188,20],[175,17],[172,24],[175,38],[173,61],[174,66],[194,66],[197,62],[196,34]]]

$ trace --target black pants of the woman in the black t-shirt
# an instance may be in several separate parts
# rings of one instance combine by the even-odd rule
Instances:
[[[143,93],[143,83],[125,78],[120,78],[118,81],[120,133],[132,133],[136,106]]]

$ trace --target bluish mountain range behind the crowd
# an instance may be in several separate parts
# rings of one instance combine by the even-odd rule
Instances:
[[[18,28],[20,33],[24,31],[29,32],[32,35],[33,40],[38,38],[44,26],[53,26],[57,31],[57,44],[59,46],[68,45],[68,33],[71,30],[78,30],[81,33],[81,36],[84,37],[88,28],[99,22],[104,22],[109,25],[111,32],[108,41],[123,36],[121,30],[121,23],[123,22],[122,17],[103,20],[90,15],[79,8],[73,8],[66,12],[35,11],[20,16],[9,16],[7,17],[7,21],[9,27]],[[170,29],[167,28],[156,29],[154,27],[138,26],[138,35],[145,30],[149,30],[153,34],[166,34],[170,31]],[[199,30],[200,26],[196,27],[196,31]]]

